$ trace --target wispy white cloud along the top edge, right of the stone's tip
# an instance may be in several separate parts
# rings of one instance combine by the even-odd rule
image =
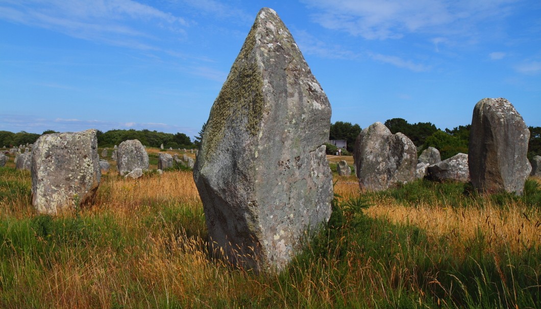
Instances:
[[[366,39],[401,38],[424,32],[465,35],[486,18],[504,17],[517,0],[301,0],[315,22]]]

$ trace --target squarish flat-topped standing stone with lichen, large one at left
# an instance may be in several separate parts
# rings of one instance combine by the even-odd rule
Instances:
[[[100,184],[96,130],[40,136],[32,154],[32,205],[55,215],[91,202]]]

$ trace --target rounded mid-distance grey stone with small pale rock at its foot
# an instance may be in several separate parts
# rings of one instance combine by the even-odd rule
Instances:
[[[138,140],[123,141],[118,145],[116,166],[118,173],[124,176],[130,171],[140,168],[148,170],[148,154]]]

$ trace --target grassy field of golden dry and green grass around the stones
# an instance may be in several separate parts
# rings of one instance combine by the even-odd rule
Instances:
[[[159,150],[149,153],[153,167]],[[34,214],[30,173],[10,163],[0,168],[0,307],[541,307],[538,179],[523,197],[334,182],[326,228],[282,272],[254,274],[208,255],[189,171],[126,180],[111,170],[95,204],[50,217]]]

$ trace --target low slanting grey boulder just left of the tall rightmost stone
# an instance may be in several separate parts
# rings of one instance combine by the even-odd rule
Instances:
[[[429,166],[428,177],[436,181],[469,182],[468,155],[459,153],[447,160]]]

